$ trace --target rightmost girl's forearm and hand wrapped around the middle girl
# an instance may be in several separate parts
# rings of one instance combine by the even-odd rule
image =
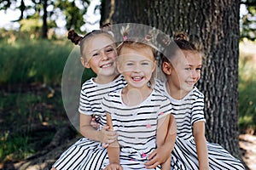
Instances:
[[[157,133],[157,149],[148,156],[150,161],[145,163],[148,166],[147,168],[154,168],[171,157],[177,135],[177,126],[174,116],[172,114],[169,114],[169,116],[168,119],[164,120],[165,127],[157,129],[157,132],[159,132]]]

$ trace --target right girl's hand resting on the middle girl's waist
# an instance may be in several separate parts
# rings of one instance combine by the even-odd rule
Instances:
[[[161,163],[166,162],[166,160],[171,156],[171,151],[166,150],[166,147],[164,145],[158,147],[156,150],[154,150],[149,156],[148,160],[144,165],[146,168],[154,168],[160,165]]]

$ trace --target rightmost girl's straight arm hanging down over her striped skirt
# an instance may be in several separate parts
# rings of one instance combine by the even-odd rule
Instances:
[[[199,169],[209,169],[207,140],[205,137],[205,122],[195,122],[193,125],[196,152],[199,161]]]

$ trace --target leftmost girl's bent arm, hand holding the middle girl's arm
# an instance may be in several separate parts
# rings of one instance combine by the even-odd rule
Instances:
[[[102,143],[112,143],[117,138],[117,133],[108,131],[108,126],[102,127],[102,130],[97,131],[90,125],[91,116],[80,114],[80,133],[88,139],[99,141]]]

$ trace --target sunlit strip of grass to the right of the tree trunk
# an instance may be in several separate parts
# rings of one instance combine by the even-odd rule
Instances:
[[[254,48],[256,44],[254,45]],[[239,63],[239,127],[241,133],[256,133],[256,55],[241,49]]]

